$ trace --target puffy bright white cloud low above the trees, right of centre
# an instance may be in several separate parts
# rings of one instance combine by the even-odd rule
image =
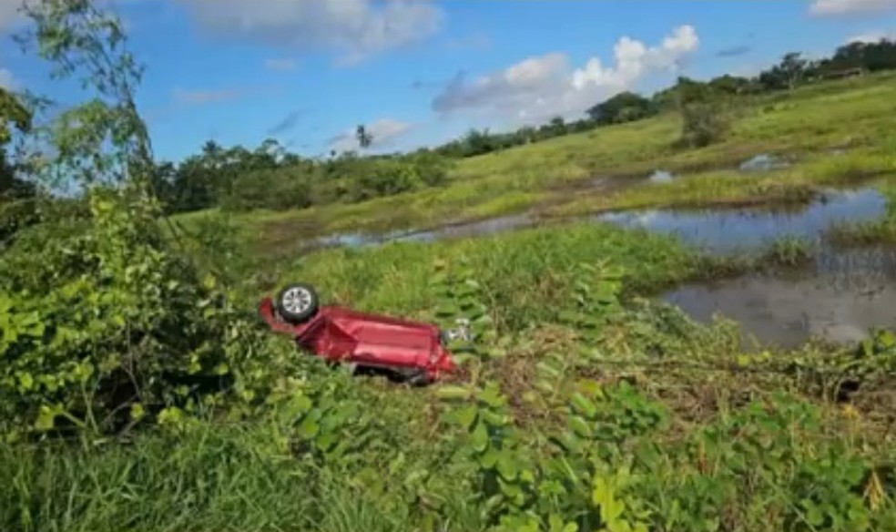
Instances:
[[[433,109],[443,114],[491,110],[521,122],[555,115],[577,117],[649,75],[675,70],[699,42],[693,26],[679,26],[657,46],[623,36],[614,47],[613,66],[592,57],[583,67],[571,69],[568,56],[552,53],[529,57],[471,82],[459,74],[433,99]]]

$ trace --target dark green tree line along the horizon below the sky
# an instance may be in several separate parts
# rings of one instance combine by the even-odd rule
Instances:
[[[333,202],[358,202],[414,189],[439,186],[453,161],[484,155],[547,138],[583,132],[614,124],[680,112],[685,118],[682,143],[706,145],[725,128],[713,105],[737,97],[788,91],[821,80],[862,75],[896,68],[896,42],[850,43],[830,57],[810,61],[789,53],[754,77],[725,75],[707,82],[678,77],[676,83],[646,97],[626,91],[590,107],[585,117],[565,121],[556,117],[540,127],[494,133],[471,129],[462,138],[435,148],[386,155],[355,151],[329,157],[309,158],[291,153],[274,139],[258,148],[223,147],[209,140],[199,153],[174,163],[156,164],[154,179],[158,196],[169,212],[187,212],[219,207],[225,210],[302,209]],[[27,110],[15,95],[0,89],[0,146],[14,128],[30,125]],[[372,146],[372,132],[356,129],[361,150]],[[5,150],[0,150],[5,154]],[[0,156],[0,199],[30,196],[35,188],[15,177],[15,164]]]

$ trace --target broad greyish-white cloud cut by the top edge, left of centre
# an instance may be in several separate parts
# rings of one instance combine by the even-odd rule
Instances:
[[[3,1],[3,0],[0,0]],[[340,51],[344,63],[435,34],[444,13],[432,0],[178,0],[213,36],[304,51]]]

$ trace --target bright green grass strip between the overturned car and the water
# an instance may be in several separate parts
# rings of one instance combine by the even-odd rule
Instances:
[[[513,330],[553,321],[570,306],[572,272],[581,261],[608,259],[626,267],[630,292],[649,292],[726,268],[723,261],[710,264],[664,236],[586,222],[432,244],[319,251],[281,271],[279,278],[282,283],[311,281],[334,302],[424,317],[436,295],[433,261],[460,257],[480,272],[498,322]]]

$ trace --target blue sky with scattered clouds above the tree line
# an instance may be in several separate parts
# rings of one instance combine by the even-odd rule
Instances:
[[[21,24],[0,0],[0,33]],[[148,67],[158,157],[209,138],[300,153],[443,142],[541,123],[677,74],[748,75],[789,51],[896,36],[896,0],[108,0]],[[0,85],[66,101],[46,65],[0,46]],[[348,135],[347,135],[348,133]]]

